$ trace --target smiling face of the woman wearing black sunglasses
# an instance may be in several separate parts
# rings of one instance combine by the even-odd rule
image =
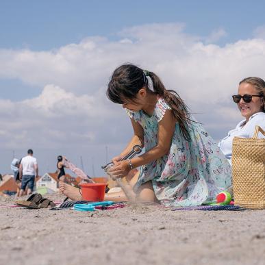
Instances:
[[[238,87],[238,94],[243,96],[244,94],[251,94],[251,95],[258,95],[257,89],[248,83],[242,83]],[[241,115],[246,118],[247,121],[249,121],[249,118],[257,113],[262,112],[263,108],[263,99],[261,97],[252,97],[251,102],[247,103],[244,102],[243,99],[240,99],[238,103],[238,109],[241,112]]]

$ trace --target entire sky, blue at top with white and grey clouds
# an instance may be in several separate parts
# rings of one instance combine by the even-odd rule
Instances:
[[[91,176],[132,136],[105,96],[131,62],[176,90],[216,140],[242,120],[231,94],[265,79],[264,1],[0,1],[0,173],[34,150],[40,174],[66,155]]]

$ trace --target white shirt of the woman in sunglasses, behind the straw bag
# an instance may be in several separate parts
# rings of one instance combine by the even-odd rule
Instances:
[[[246,121],[246,120],[244,120]],[[242,138],[252,138],[255,126],[259,125],[262,129],[265,130],[265,113],[264,112],[257,112],[253,114],[249,121],[242,127],[244,121],[240,121],[238,125],[236,125],[236,129],[232,129],[228,132],[228,135],[220,140],[218,143],[218,147],[220,147],[221,151],[225,154],[228,161],[231,164],[231,157],[232,157],[232,142],[235,136],[242,137]],[[263,134],[258,134],[258,138],[265,138]]]

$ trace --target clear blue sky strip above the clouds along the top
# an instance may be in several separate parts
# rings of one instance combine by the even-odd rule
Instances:
[[[251,38],[264,24],[264,1],[34,1],[2,0],[2,48],[58,48],[87,36],[114,38],[123,27],[181,22],[186,32],[207,36],[222,27],[222,42]]]

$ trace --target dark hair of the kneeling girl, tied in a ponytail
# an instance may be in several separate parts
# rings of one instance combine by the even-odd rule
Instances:
[[[118,104],[123,104],[124,99],[134,101],[138,91],[145,87],[149,89],[149,76],[153,83],[154,93],[163,98],[171,107],[173,115],[179,123],[181,134],[186,140],[190,140],[188,123],[190,123],[188,107],[174,90],[166,90],[162,81],[153,72],[143,71],[133,64],[123,64],[114,71],[110,83],[108,84],[108,98]]]

